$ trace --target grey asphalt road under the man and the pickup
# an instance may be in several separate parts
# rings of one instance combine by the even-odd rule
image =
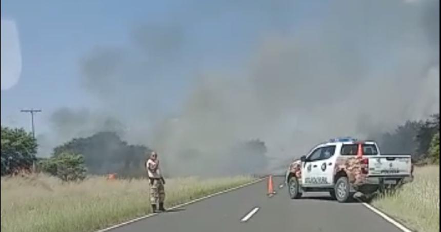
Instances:
[[[283,178],[274,178],[277,194],[266,196],[266,181],[218,195],[110,230],[111,232],[399,232],[360,203],[338,203],[326,193],[291,200]],[[256,207],[258,210],[256,211]],[[253,210],[254,209],[254,210]],[[255,214],[241,220],[250,211]]]

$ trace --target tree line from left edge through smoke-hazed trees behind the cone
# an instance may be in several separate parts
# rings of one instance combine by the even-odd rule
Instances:
[[[37,141],[22,128],[2,126],[1,140],[2,176],[31,172],[34,163],[35,171],[49,173],[64,181],[83,180],[87,175],[107,175],[114,172],[119,177],[144,176],[143,164],[151,151],[144,145],[128,144],[115,132],[97,132],[90,137],[74,138],[53,148],[48,158],[36,157]],[[267,166],[266,146],[262,141],[238,142],[226,152],[234,154],[234,160],[220,154],[213,161],[209,160],[214,159],[213,157],[203,153],[187,151],[176,158],[178,160],[174,163],[190,165],[192,175],[206,175],[207,170],[211,170],[211,175],[225,175],[227,171],[230,175],[237,175],[253,173]],[[228,170],[223,167],[228,167]],[[168,171],[179,175],[178,167],[171,168],[176,170]]]

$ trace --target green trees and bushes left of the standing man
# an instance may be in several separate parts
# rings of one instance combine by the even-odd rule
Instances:
[[[115,132],[98,132],[55,147],[49,158],[37,158],[38,144],[31,133],[23,128],[2,126],[1,129],[2,176],[31,172],[33,167],[65,181],[111,172],[139,176],[144,173],[142,163],[150,151],[143,145],[129,145]]]

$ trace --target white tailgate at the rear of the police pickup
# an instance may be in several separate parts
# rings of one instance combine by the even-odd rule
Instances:
[[[368,176],[410,176],[410,156],[369,157]]]

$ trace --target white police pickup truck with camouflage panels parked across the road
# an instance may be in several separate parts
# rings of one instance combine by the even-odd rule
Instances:
[[[410,154],[382,154],[375,141],[349,137],[331,139],[315,146],[286,172],[291,199],[307,191],[327,191],[339,202],[355,192],[369,195],[385,187],[396,187],[413,178]]]

